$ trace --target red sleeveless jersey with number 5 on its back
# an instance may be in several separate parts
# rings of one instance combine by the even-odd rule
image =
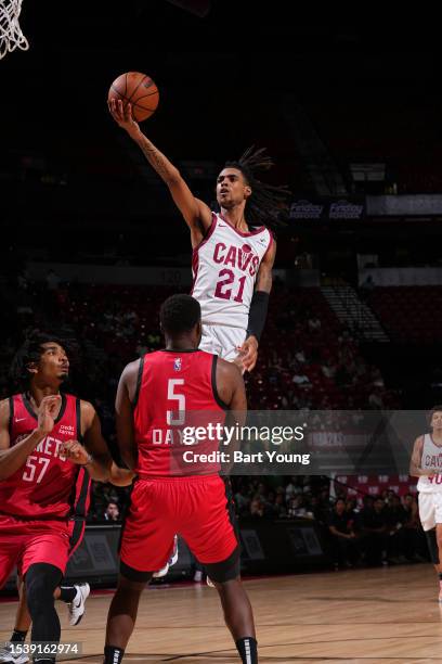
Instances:
[[[213,431],[223,424],[225,405],[217,392],[218,357],[204,350],[157,350],[140,360],[133,412],[139,476],[211,474],[219,465],[183,463],[186,432]],[[217,439],[198,442],[198,451],[218,448]]]

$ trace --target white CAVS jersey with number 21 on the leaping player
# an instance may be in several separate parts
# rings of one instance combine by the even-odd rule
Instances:
[[[192,259],[192,295],[200,304],[204,324],[247,330],[259,266],[272,242],[264,226],[243,233],[212,213],[212,224]]]

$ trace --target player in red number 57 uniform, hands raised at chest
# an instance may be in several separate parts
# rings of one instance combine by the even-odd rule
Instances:
[[[0,404],[0,587],[16,564],[32,641],[60,639],[54,596],[72,604],[73,621],[83,612],[87,585],[60,589],[60,580],[82,537],[90,478],[126,485],[133,477],[113,463],[92,405],[60,394],[68,367],[60,341],[35,335],[16,356],[28,391]],[[28,625],[24,610],[17,617]]]

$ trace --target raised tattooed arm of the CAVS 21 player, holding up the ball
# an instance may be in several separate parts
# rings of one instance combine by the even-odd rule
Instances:
[[[168,186],[177,207],[191,229],[192,245],[196,246],[211,225],[210,208],[194,196],[178,168],[141,131],[139,124],[132,117],[131,104],[125,107],[121,100],[114,99],[109,102],[109,112],[115,122],[126,129],[141,148],[147,162]]]

